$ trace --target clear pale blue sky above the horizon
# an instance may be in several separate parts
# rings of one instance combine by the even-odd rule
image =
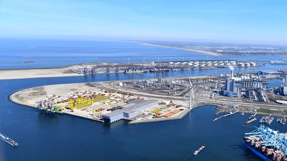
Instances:
[[[0,0],[0,37],[287,44],[287,0]]]

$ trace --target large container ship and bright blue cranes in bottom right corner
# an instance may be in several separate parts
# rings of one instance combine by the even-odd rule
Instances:
[[[287,134],[264,125],[245,133],[246,146],[264,161],[287,161]]]

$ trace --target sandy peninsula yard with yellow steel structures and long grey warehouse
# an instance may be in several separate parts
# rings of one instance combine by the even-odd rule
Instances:
[[[121,119],[145,122],[177,119],[190,111],[178,100],[154,99],[100,87],[98,83],[40,86],[15,92],[10,99],[45,113],[109,123]]]

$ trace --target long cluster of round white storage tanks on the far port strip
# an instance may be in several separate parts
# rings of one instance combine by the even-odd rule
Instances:
[[[191,67],[211,67],[211,66],[239,66],[239,67],[255,67],[256,63],[249,62],[249,63],[243,63],[243,62],[236,62],[236,61],[189,61],[189,62],[169,62],[169,65],[186,65]]]

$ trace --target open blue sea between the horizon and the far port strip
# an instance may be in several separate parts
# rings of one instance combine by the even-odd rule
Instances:
[[[239,60],[278,61],[287,56],[210,56],[186,50],[108,40],[0,39],[0,69],[51,68],[82,63]],[[24,63],[33,60],[34,63]],[[287,62],[287,61],[285,61]]]

